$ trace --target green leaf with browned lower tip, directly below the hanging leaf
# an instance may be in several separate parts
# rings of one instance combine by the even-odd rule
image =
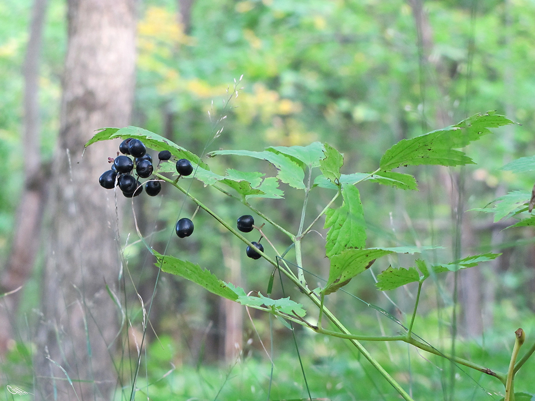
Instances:
[[[381,256],[394,253],[385,249],[346,249],[331,256],[329,277],[322,292],[327,295],[345,286],[353,277],[368,269]]]

